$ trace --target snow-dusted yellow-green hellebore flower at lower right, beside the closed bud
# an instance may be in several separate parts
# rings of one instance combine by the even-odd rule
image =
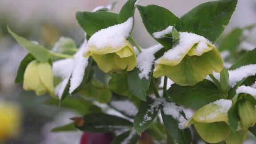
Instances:
[[[231,100],[217,100],[198,109],[185,126],[194,124],[200,137],[208,143],[218,143],[228,139],[228,109]]]

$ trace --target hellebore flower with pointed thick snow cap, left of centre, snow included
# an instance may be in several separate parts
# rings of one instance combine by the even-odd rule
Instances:
[[[103,72],[115,72],[136,66],[136,53],[127,40],[132,30],[133,19],[122,24],[101,29],[91,36],[84,56],[91,55]]]

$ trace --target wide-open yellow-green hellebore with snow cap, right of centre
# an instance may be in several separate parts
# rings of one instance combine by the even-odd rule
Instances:
[[[180,32],[179,44],[157,60],[153,76],[167,76],[182,86],[195,85],[212,71],[222,69],[220,52],[209,40],[194,33]]]

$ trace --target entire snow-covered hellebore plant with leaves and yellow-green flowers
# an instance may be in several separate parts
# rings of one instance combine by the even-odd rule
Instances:
[[[113,5],[77,12],[86,34],[79,48],[65,37],[44,48],[8,28],[28,51],[16,82],[51,95],[44,104],[84,115],[52,131],[112,132],[112,144],[143,142],[141,135],[168,144],[243,144],[248,131],[256,136],[256,49],[226,69],[218,45],[225,51],[236,41],[215,45],[237,0],[200,4],[180,18],[139,2],[128,0],[119,14]],[[131,36],[136,9],[159,44],[142,49]]]

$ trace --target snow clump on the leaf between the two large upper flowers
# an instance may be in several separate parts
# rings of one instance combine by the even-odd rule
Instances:
[[[139,77],[140,79],[146,78],[148,80],[148,73],[151,72],[152,64],[155,60],[154,54],[159,51],[163,46],[161,44],[156,44],[150,48],[144,49],[137,56],[137,68],[140,69]]]

